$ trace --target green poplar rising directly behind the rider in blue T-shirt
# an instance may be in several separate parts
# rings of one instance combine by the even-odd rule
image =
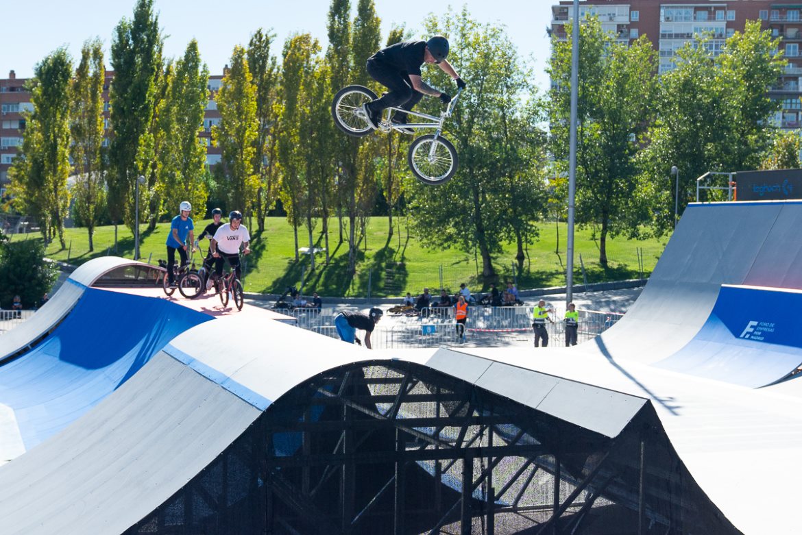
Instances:
[[[209,69],[201,62],[195,39],[189,42],[184,57],[170,69],[166,83],[167,95],[160,109],[160,134],[172,150],[165,150],[172,162],[163,160],[164,203],[169,212],[177,210],[181,201],[188,200],[199,213],[208,197],[204,180],[206,149],[198,139],[202,130],[206,104],[209,102]],[[164,115],[162,117],[161,115]]]

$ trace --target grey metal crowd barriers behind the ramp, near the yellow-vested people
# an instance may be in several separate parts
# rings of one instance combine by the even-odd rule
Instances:
[[[479,347],[508,347],[531,343],[533,307],[472,307],[465,324],[465,340],[457,334],[452,308],[425,308],[419,316],[392,316],[392,323],[380,323],[371,335],[374,348],[432,348],[464,343]],[[622,318],[616,312],[577,310],[578,342],[592,340]],[[320,311],[297,309],[283,312],[294,316],[299,328],[337,338],[334,308]],[[565,310],[554,307],[554,323],[547,323],[549,343],[565,344]]]

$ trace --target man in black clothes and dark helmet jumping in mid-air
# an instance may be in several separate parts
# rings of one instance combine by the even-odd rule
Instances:
[[[451,102],[451,95],[428,86],[420,78],[420,66],[424,62],[435,63],[444,73],[454,78],[457,87],[464,89],[465,82],[446,61],[446,56],[448,56],[448,39],[442,35],[435,35],[428,41],[397,42],[368,58],[367,74],[390,90],[381,99],[363,105],[363,111],[371,127],[379,128],[382,110],[388,107],[401,107],[411,111],[423,95],[439,97],[444,104]],[[406,124],[407,114],[396,112],[391,120],[396,125]],[[412,133],[411,129],[403,127],[401,129],[408,134]]]

